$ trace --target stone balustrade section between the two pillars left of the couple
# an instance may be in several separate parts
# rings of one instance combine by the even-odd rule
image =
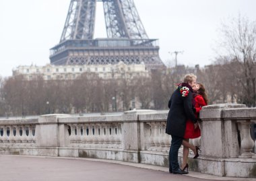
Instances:
[[[104,118],[107,118],[106,116]],[[115,116],[110,122],[100,116],[90,118],[59,118],[66,131],[69,131],[69,147],[86,147],[94,149],[122,148],[122,122],[120,116]],[[75,122],[75,123],[73,123]]]

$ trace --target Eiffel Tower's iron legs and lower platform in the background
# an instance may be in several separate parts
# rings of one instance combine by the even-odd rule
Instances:
[[[94,39],[96,3],[104,7],[108,38]],[[145,63],[155,69],[160,60],[157,39],[143,28],[133,0],[71,0],[59,44],[51,48],[53,65]]]

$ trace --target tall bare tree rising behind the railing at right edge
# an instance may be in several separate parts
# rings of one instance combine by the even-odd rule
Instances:
[[[224,56],[222,53],[218,59],[238,65],[236,71],[230,69],[234,81],[243,90],[238,100],[247,106],[256,106],[256,22],[249,22],[247,17],[239,16],[222,24],[221,34],[220,47],[224,48]]]

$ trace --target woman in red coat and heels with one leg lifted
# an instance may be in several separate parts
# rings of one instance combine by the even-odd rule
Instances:
[[[199,117],[199,111],[203,106],[207,105],[207,96],[205,94],[205,88],[201,83],[195,84],[193,87],[193,106],[195,108],[195,116],[198,118]],[[198,124],[198,123],[197,123]],[[186,129],[185,129],[185,135],[183,139],[183,164],[181,166],[182,170],[189,170],[189,165],[187,164],[187,157],[189,156],[189,148],[193,150],[195,153],[194,159],[199,156],[198,150],[199,147],[196,147],[194,145],[191,145],[189,143],[189,139],[195,139],[201,136],[201,131],[199,129],[198,125],[194,125],[191,120],[187,120],[186,122]]]

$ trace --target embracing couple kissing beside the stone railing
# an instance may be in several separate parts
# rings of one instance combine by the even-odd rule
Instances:
[[[199,156],[199,147],[191,145],[189,139],[201,136],[198,126],[199,111],[207,105],[205,89],[201,83],[196,83],[197,77],[193,74],[185,75],[173,92],[168,102],[166,133],[172,136],[169,152],[169,172],[173,174],[188,174],[187,157],[189,149],[193,150],[196,159]],[[183,163],[178,163],[179,148],[183,145]],[[186,171],[187,170],[187,171]]]

